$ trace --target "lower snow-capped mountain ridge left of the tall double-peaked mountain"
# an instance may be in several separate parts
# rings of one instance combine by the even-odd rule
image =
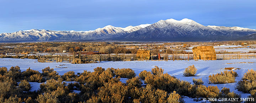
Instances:
[[[92,39],[108,39],[128,34],[136,30],[147,27],[150,24],[142,24],[138,26],[128,26],[126,28],[113,27],[107,25],[103,28],[90,31],[52,31],[52,30],[20,30],[14,33],[0,34],[0,42],[18,42],[18,41],[60,41],[60,40],[92,40]]]

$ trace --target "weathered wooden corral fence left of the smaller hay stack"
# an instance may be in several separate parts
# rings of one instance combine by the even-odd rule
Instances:
[[[73,63],[96,63],[101,61],[132,61],[132,55],[40,55],[38,62],[73,62]]]

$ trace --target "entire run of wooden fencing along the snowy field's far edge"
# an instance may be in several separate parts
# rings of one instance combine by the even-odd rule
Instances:
[[[150,60],[158,60],[157,55],[151,55]],[[133,60],[144,60],[146,57],[136,57],[134,54],[122,54],[122,55],[39,55],[38,62],[71,62],[71,63],[100,63],[101,61],[133,61]],[[223,54],[217,55],[217,59],[254,59],[255,54]],[[162,60],[191,60],[193,54],[173,54],[173,55],[161,55]]]

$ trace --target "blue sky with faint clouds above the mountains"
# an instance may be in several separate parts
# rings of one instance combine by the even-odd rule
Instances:
[[[256,0],[0,0],[0,33],[87,31],[113,25],[192,19],[203,25],[256,29]]]

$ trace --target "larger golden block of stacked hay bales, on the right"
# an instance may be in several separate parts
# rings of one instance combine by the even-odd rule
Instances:
[[[213,46],[197,46],[192,48],[194,59],[216,60],[216,52]]]

